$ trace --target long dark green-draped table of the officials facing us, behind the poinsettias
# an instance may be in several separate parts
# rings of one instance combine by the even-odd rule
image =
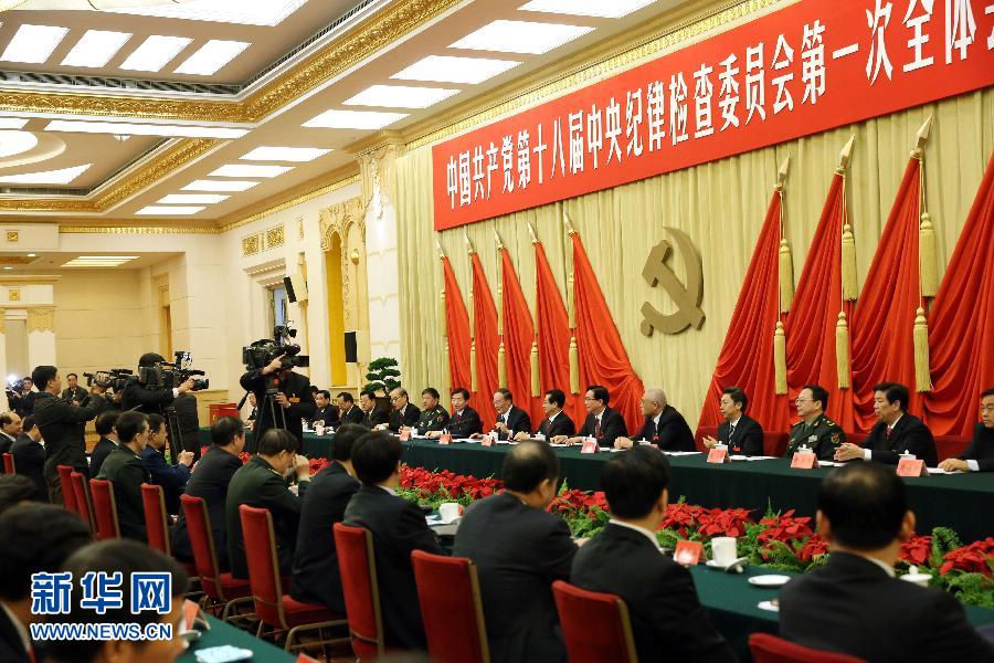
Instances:
[[[307,457],[329,457],[334,435],[304,433],[303,453]],[[210,444],[210,431],[201,429],[201,441]],[[504,455],[510,445],[483,446],[457,442],[450,445],[433,440],[404,442],[403,461],[426,470],[450,470],[483,478],[500,478]],[[582,454],[578,448],[556,448],[562,480],[571,488],[600,490],[601,465],[611,452]],[[799,516],[814,516],[817,487],[829,469],[792,470],[786,459],[708,463],[705,454],[670,455],[673,485],[670,499],[683,496],[690,504],[708,508],[749,508],[761,517],[768,506],[774,511],[794,509]],[[954,475],[906,477],[911,508],[921,534],[933,527],[951,527],[970,543],[994,536],[994,473],[971,472]]]

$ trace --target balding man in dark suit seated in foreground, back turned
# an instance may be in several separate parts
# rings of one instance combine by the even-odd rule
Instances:
[[[452,552],[476,565],[494,663],[564,662],[552,582],[569,579],[577,544],[565,520],[546,511],[559,459],[543,442],[521,442],[505,456],[503,476],[503,493],[466,512]]]

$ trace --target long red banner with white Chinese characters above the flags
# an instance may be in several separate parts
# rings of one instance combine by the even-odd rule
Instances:
[[[994,84],[994,0],[801,0],[432,148],[435,230]]]

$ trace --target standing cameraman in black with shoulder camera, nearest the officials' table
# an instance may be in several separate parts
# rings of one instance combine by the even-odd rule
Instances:
[[[268,379],[273,380],[276,389],[271,401],[266,400]],[[316,406],[310,392],[310,380],[307,379],[307,376],[294,372],[293,358],[285,354],[279,355],[263,368],[247,371],[239,382],[242,385],[242,389],[255,394],[258,403],[258,415],[253,427],[254,440],[250,451],[255,451],[257,441],[267,430],[282,428],[284,419],[287,432],[297,439],[298,450],[303,451],[304,424],[300,420],[305,418],[309,420],[314,415]],[[274,412],[274,407],[283,409],[283,417],[278,411]],[[274,414],[275,422],[273,421]]]

